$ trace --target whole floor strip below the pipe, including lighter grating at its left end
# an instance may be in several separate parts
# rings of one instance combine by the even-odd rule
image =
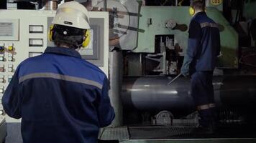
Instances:
[[[193,134],[195,126],[133,126],[105,128],[99,139],[256,139],[256,127],[235,125],[221,126],[216,134]]]

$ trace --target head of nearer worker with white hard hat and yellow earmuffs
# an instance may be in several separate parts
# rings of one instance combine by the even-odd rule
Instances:
[[[68,48],[78,49],[88,46],[90,33],[88,29],[88,11],[76,1],[60,5],[52,20],[48,38],[56,46],[67,44]]]

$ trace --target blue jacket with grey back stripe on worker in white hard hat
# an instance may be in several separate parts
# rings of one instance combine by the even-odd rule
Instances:
[[[50,47],[19,65],[13,79],[18,80],[16,89],[21,93],[17,111],[8,103],[14,87],[7,88],[4,101],[7,112],[22,117],[24,143],[96,142],[99,127],[111,124],[114,110],[107,94],[108,80],[78,55],[74,50]]]

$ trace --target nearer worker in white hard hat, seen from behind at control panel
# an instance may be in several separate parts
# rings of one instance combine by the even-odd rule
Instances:
[[[24,143],[95,143],[114,119],[106,75],[76,51],[88,45],[88,29],[83,5],[62,4],[49,33],[56,46],[17,67],[2,104],[22,118]]]

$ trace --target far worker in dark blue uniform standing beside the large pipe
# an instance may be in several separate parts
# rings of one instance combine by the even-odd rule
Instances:
[[[181,74],[191,76],[191,96],[198,110],[200,128],[213,132],[216,124],[214,87],[212,85],[216,58],[220,54],[218,25],[205,12],[203,1],[193,1],[193,16],[188,31],[188,49]]]

